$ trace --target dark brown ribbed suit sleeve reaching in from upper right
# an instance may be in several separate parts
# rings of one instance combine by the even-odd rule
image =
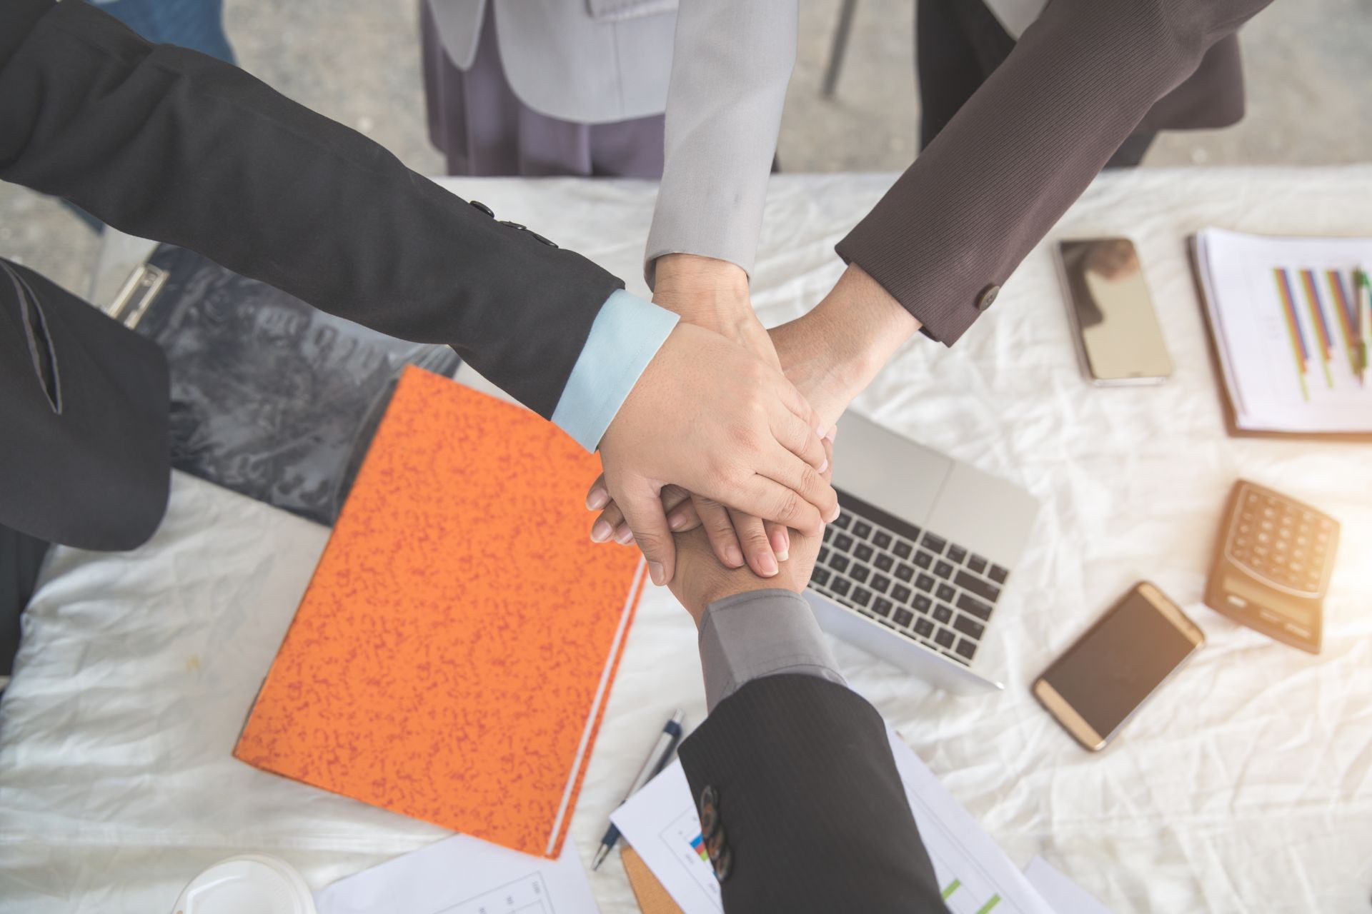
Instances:
[[[1206,48],[1268,0],[1054,0],[838,244],[952,344]]]

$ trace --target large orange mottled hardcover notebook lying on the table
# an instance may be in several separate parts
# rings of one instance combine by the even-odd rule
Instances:
[[[556,858],[642,592],[598,463],[406,369],[233,755]]]

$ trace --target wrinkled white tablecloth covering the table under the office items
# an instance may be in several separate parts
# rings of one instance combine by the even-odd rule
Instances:
[[[841,269],[833,244],[890,180],[772,180],[755,274],[766,322],[829,289]],[[643,291],[653,185],[451,186]],[[1372,167],[1096,181],[1054,237],[1137,240],[1177,365],[1161,388],[1081,380],[1048,244],[956,348],[907,345],[856,408],[1044,504],[1000,610],[995,651],[1008,687],[955,697],[847,644],[837,655],[1013,858],[1043,854],[1120,913],[1367,911],[1372,448],[1225,437],[1183,245],[1207,225],[1372,234]],[[1240,475],[1343,522],[1318,656],[1200,603],[1221,503]],[[248,850],[289,859],[317,888],[443,833],[229,756],[325,537],[178,475],[144,548],[55,552],[0,704],[0,907],[169,911],[202,866]],[[1181,603],[1209,645],[1113,748],[1091,755],[1026,687],[1139,578]],[[701,719],[690,622],[659,591],[643,600],[572,822],[584,859],[678,704]],[[617,856],[591,881],[605,914],[635,910]]]

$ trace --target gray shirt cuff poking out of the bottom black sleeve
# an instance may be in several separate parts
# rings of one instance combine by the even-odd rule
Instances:
[[[700,666],[711,711],[767,676],[797,673],[845,685],[805,597],[779,588],[737,593],[705,607]]]

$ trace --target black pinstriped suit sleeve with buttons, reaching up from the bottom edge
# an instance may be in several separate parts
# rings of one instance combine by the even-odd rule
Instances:
[[[753,680],[682,743],[681,759],[702,824],[707,788],[718,804],[727,914],[947,910],[885,724],[852,689]]]

